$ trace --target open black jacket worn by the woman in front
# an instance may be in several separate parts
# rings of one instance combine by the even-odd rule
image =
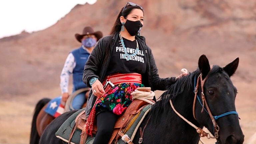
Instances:
[[[112,50],[115,47],[118,36],[119,35],[117,33],[114,37],[103,37],[95,45],[84,66],[83,81],[88,87],[91,87],[89,81],[92,77],[98,78],[100,82],[103,82],[103,79],[106,77],[106,71],[108,69]],[[145,54],[145,62],[147,64],[147,72],[142,75],[142,84],[144,84],[145,87],[151,87],[152,91],[166,90],[167,86],[176,82],[175,77],[159,78],[153,54],[151,49],[146,45],[145,38],[143,36],[136,36],[135,38],[138,41],[139,47],[142,48],[143,53]],[[96,96],[92,94],[91,90],[85,109],[86,115],[90,113],[95,101]]]

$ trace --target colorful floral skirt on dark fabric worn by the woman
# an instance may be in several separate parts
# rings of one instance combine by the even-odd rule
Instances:
[[[144,85],[138,83],[122,83],[116,85],[114,89],[110,89],[97,101],[96,110],[102,107],[109,109],[116,115],[121,115],[131,104],[131,92],[137,87],[144,87]]]

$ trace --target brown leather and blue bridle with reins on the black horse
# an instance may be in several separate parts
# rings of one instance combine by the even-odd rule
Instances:
[[[211,65],[211,69],[212,69],[212,65]],[[211,71],[211,69],[210,69],[210,71]],[[204,83],[205,83],[205,81],[207,80],[207,78],[209,77],[210,71],[209,71],[209,73],[207,74],[207,76],[206,76],[204,79],[202,79],[202,73],[200,73],[200,75],[198,76],[198,79],[197,79],[197,83],[196,83],[196,76],[195,76],[195,78],[194,78],[194,93],[195,93],[195,97],[194,97],[194,102],[193,102],[193,116],[194,116],[194,118],[195,118],[195,120],[196,120],[196,117],[195,117],[195,104],[196,104],[196,99],[198,99],[199,103],[200,103],[201,106],[202,106],[201,113],[203,112],[203,110],[205,110],[205,111],[209,114],[209,116],[210,116],[210,118],[211,118],[211,120],[212,120],[212,123],[213,123],[213,131],[214,131],[214,137],[211,136],[209,133],[206,133],[205,131],[203,131],[203,129],[201,129],[201,128],[195,126],[193,123],[191,123],[191,122],[188,121],[186,118],[184,118],[181,114],[179,114],[179,113],[175,110],[175,108],[174,108],[174,106],[173,106],[173,104],[172,104],[171,99],[170,99],[170,104],[171,104],[171,107],[172,107],[172,109],[174,110],[174,112],[175,112],[179,117],[181,117],[184,121],[186,121],[189,125],[191,125],[192,127],[194,127],[194,128],[196,129],[196,132],[199,133],[200,137],[205,137],[205,136],[206,136],[208,139],[210,139],[210,138],[215,138],[215,139],[217,139],[217,138],[219,137],[218,132],[219,132],[220,128],[219,128],[219,126],[218,126],[218,124],[216,123],[215,120],[217,120],[217,119],[220,118],[220,117],[223,117],[223,116],[226,116],[226,115],[230,115],[230,114],[237,114],[237,115],[238,115],[238,113],[237,113],[236,111],[230,111],[230,112],[226,112],[226,113],[223,113],[223,114],[221,114],[221,115],[218,115],[218,116],[213,116],[213,115],[212,115],[211,110],[210,110],[210,108],[208,107],[207,101],[206,101],[206,99],[205,99],[204,89],[203,89]],[[200,80],[200,83],[201,83],[201,99],[202,99],[202,103],[201,103],[201,101],[200,101],[199,96],[197,95],[198,87],[199,87],[199,80]],[[195,85],[195,84],[196,84],[196,85]],[[206,107],[206,109],[204,108],[204,106]]]

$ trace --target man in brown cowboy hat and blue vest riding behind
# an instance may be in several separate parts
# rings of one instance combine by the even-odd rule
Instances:
[[[91,27],[85,27],[81,35],[75,34],[77,41],[79,41],[82,45],[78,49],[75,49],[69,53],[62,69],[60,75],[60,88],[63,102],[66,102],[69,97],[68,81],[70,74],[73,74],[73,92],[87,87],[82,80],[84,65],[96,42],[102,38],[102,36],[102,32],[94,32]],[[84,102],[85,93],[80,93],[74,98],[72,107],[74,109],[80,109]]]

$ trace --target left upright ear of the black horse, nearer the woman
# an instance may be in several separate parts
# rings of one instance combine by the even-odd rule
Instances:
[[[198,60],[198,67],[202,73],[202,79],[204,79],[210,71],[210,64],[205,55],[201,55]]]

